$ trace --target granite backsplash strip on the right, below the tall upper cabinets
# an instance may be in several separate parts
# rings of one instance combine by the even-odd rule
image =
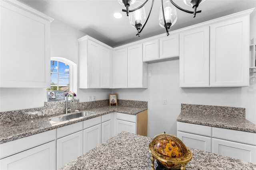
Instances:
[[[222,115],[222,116],[228,116],[228,117],[245,118],[245,108],[242,108],[242,107],[181,104],[181,111],[190,112],[190,113],[207,114],[207,115]]]

